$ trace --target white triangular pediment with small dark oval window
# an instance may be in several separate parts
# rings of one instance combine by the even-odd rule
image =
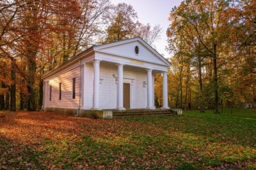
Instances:
[[[139,53],[136,54],[135,47],[139,48]],[[97,52],[113,54],[120,57],[128,57],[150,63],[170,66],[170,63],[156,52],[150,45],[146,44],[140,37],[134,39],[116,41],[110,44],[95,46]]]

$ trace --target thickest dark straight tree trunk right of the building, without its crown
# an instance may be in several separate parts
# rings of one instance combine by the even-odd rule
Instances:
[[[217,82],[217,45],[215,44],[214,46],[214,52],[213,52],[213,69],[214,69],[214,87],[215,87],[215,113],[219,113],[219,87],[218,87],[218,82]]]

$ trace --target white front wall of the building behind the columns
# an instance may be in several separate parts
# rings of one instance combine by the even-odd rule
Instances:
[[[114,64],[100,63],[100,97],[99,106],[101,109],[115,109],[117,105],[117,66]],[[127,79],[129,78],[129,79]],[[132,79],[133,85],[132,85]],[[131,83],[131,108],[146,108],[146,70],[138,70],[124,66],[124,83]],[[93,64],[85,65],[85,97],[84,109],[93,107]]]

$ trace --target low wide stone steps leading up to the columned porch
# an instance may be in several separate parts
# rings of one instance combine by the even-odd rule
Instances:
[[[171,109],[127,109],[124,111],[112,111],[113,118],[147,117],[147,116],[172,116],[177,114]]]

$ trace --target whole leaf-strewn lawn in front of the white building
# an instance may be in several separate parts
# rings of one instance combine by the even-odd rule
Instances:
[[[117,120],[0,112],[0,169],[256,168],[255,109]]]

